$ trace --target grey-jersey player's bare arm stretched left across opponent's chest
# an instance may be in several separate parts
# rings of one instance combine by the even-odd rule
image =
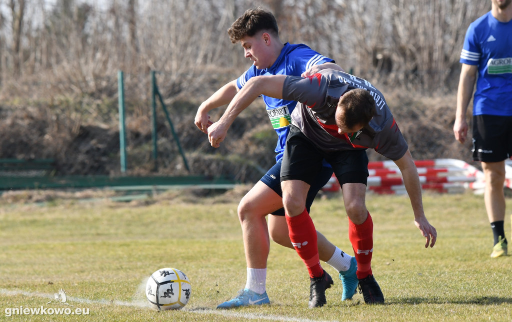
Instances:
[[[257,76],[252,77],[240,89],[237,95],[231,100],[226,111],[216,123],[208,127],[208,140],[214,148],[218,148],[224,141],[227,130],[247,106],[260,95],[268,97],[283,98],[283,84],[285,75]]]

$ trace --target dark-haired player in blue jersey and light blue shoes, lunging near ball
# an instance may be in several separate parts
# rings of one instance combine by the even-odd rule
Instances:
[[[247,10],[233,22],[228,34],[232,43],[241,43],[245,57],[249,58],[253,64],[242,76],[225,84],[199,106],[195,124],[205,133],[208,133],[208,127],[211,124],[208,111],[230,103],[237,91],[255,76],[309,75],[322,68],[341,70],[332,59],[318,54],[304,44],[283,43],[279,38],[278,25],[274,16],[261,8]],[[270,247],[269,233],[275,242],[293,248],[284,218],[280,171],[289,132],[290,113],[295,108],[296,102],[266,96],[263,96],[263,100],[272,126],[278,134],[278,143],[275,147],[276,164],[242,198],[238,206],[247,262],[247,282],[245,288],[236,297],[220,304],[218,306],[220,309],[268,304],[266,267]],[[212,146],[218,147],[220,142],[216,141]],[[325,166],[315,178],[307,197],[308,210],[315,195],[331,175],[332,168]],[[267,226],[265,217],[268,214],[270,216]],[[318,250],[320,259],[340,273],[339,277],[343,282],[342,300],[352,298],[358,284],[355,258],[345,254],[320,233],[318,233]]]

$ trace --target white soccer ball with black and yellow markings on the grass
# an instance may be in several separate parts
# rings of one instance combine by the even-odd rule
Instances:
[[[190,300],[190,281],[181,270],[161,268],[146,283],[146,297],[151,306],[163,310],[179,310]]]

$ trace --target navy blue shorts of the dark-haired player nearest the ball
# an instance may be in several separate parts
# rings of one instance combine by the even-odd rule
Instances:
[[[275,191],[276,194],[283,197],[283,191],[281,190],[281,180],[280,180],[280,173],[281,173],[281,161],[279,160],[278,163],[276,163],[270,170],[267,171],[267,173],[261,178],[260,180],[265,183],[270,189]],[[332,176],[332,168],[329,167],[322,167],[318,174],[314,177],[311,183],[311,187],[309,188],[308,197],[306,198],[306,209],[308,210],[311,208],[311,204],[313,203],[314,198],[316,197],[316,194],[320,189],[322,189],[327,181]],[[277,216],[284,216],[285,210],[284,208],[281,208],[279,210],[276,210],[272,213],[272,215]]]

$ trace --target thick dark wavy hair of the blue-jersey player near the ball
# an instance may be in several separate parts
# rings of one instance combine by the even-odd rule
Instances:
[[[242,16],[233,22],[227,33],[232,43],[239,42],[244,37],[252,37],[260,31],[279,33],[278,22],[274,15],[262,7],[247,9]]]

